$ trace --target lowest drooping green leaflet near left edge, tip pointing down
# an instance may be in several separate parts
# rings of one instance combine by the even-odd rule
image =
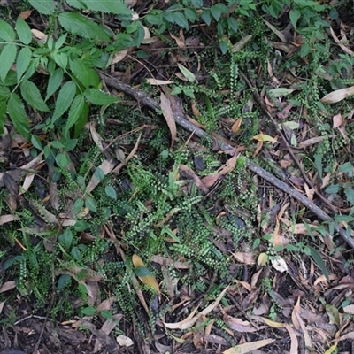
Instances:
[[[7,111],[9,112],[13,126],[16,128],[19,134],[29,140],[29,121],[25,107],[17,94],[11,94],[7,103]]]

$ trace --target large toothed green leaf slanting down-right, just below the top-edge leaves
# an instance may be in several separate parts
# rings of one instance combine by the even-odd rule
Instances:
[[[98,26],[92,19],[87,19],[76,12],[61,12],[58,16],[60,25],[73,35],[84,38],[110,41],[103,27]]]

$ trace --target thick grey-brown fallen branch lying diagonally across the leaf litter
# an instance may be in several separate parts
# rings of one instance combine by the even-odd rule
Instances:
[[[118,89],[119,91],[122,91],[126,93],[129,96],[132,96],[135,98],[136,101],[138,101],[140,104],[143,104],[147,107],[149,107],[152,110],[160,110],[159,104],[153,100],[150,96],[147,96],[145,93],[143,93],[140,90],[132,88],[130,85],[127,85],[126,83],[119,81],[118,79],[113,78],[111,75],[108,75],[107,73],[100,72],[100,76],[102,80],[110,87],[113,89]],[[208,135],[206,132],[204,132],[203,129],[194,126],[192,123],[190,123],[187,119],[184,118],[184,116],[181,113],[174,113],[173,112],[173,117],[176,120],[176,123],[180,126],[188,130],[189,132],[193,133],[194,135],[198,137],[203,137],[204,139],[207,139],[209,141],[212,141],[212,136]],[[219,148],[221,150],[235,150],[235,148],[231,145],[229,145],[227,142],[221,142],[218,141],[219,143]],[[335,231],[341,235],[342,239],[347,242],[352,249],[354,249],[354,240],[351,237],[348,237],[346,231],[340,227],[334,219],[332,219],[329,215],[327,215],[326,212],[323,212],[319,207],[314,204],[310,199],[308,199],[306,196],[304,196],[302,193],[298,192],[296,189],[291,188],[288,184],[284,183],[283,181],[279,180],[273,174],[266,172],[262,167],[256,165],[255,163],[251,162],[250,159],[245,158],[246,163],[250,171],[253,173],[258,174],[259,177],[265,179],[269,183],[273,184],[274,187],[281,189],[283,192],[289,194],[289,196],[292,196],[295,198],[297,201],[299,201],[301,204],[304,204],[305,207],[310,209],[315,215],[319,217],[322,221],[327,221],[329,223],[333,223],[335,227]]]

